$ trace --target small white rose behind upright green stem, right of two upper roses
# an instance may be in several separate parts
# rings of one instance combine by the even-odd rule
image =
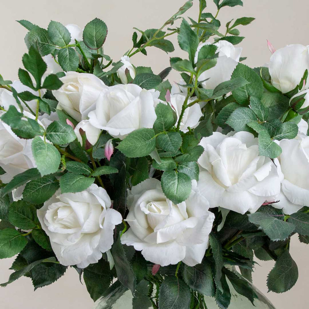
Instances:
[[[182,94],[171,95],[171,106],[177,114],[177,123],[185,98],[186,97]],[[194,99],[195,98],[189,99],[188,104],[193,102]],[[203,116],[203,113],[199,104],[194,104],[186,108],[184,116],[181,119],[180,130],[183,132],[188,132],[188,127],[195,128],[199,124],[201,116]]]

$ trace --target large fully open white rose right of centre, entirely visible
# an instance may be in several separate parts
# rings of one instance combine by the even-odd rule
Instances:
[[[275,201],[280,180],[271,159],[259,156],[258,139],[249,132],[226,136],[214,132],[202,138],[205,151],[198,159],[202,171],[197,187],[210,207],[245,214],[265,201]]]

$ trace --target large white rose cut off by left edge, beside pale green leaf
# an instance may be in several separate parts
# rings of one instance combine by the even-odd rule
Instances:
[[[28,112],[25,116],[32,118]],[[19,138],[6,123],[0,120],[0,166],[6,171],[0,178],[4,183],[29,168],[36,167],[31,150],[31,139]]]

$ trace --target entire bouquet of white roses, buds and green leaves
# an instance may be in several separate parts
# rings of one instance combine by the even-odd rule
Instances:
[[[269,65],[252,69],[235,45],[254,18],[224,33],[219,11],[243,2],[214,2],[216,15],[199,0],[182,18],[190,0],[136,29],[117,62],[100,19],[19,21],[24,69],[0,75],[0,258],[17,255],[1,286],[26,276],[37,289],[70,266],[96,308],[130,290],[133,308],[213,308],[209,297],[223,309],[232,288],[253,306],[254,256],[275,261],[269,290],[294,286],[291,236],[309,243],[308,47],[268,42]],[[159,74],[133,65],[173,52],[170,35],[186,59]]]

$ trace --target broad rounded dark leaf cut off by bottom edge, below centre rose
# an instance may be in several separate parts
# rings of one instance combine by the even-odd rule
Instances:
[[[181,279],[165,277],[159,290],[160,309],[187,309],[191,303],[190,288]]]

